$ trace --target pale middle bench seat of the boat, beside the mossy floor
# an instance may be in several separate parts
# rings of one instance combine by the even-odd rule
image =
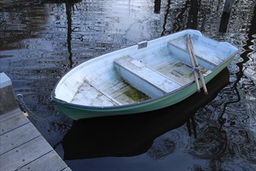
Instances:
[[[129,56],[116,59],[115,67],[126,82],[152,98],[163,96],[180,88],[179,84],[165,75],[155,72]]]

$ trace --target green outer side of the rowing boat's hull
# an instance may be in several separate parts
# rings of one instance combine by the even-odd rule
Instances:
[[[212,73],[204,77],[205,83],[210,82],[216,75],[219,74],[219,72],[222,72],[222,70],[226,68],[231,63],[231,61],[233,61],[233,58],[234,56],[222,63],[222,65],[219,65],[217,68],[215,68]],[[183,99],[186,99],[187,97],[193,95],[196,92],[197,87],[193,82],[192,84],[185,86],[182,89],[178,89],[176,92],[171,92],[166,96],[162,96],[162,98],[150,99],[142,103],[133,103],[127,106],[93,108],[87,106],[73,106],[69,103],[57,103],[57,106],[68,117],[72,118],[73,120],[80,120],[90,117],[107,117],[159,110],[179,103]]]

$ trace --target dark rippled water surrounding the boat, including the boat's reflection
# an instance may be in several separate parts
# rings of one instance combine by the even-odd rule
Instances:
[[[1,72],[71,169],[256,169],[255,0],[227,1],[230,8],[220,0],[23,2],[0,7]],[[187,28],[241,49],[210,96],[158,113],[80,122],[49,102],[55,83],[81,62]]]

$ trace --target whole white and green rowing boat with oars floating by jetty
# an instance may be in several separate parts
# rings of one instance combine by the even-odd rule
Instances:
[[[159,110],[201,88],[207,94],[207,83],[237,53],[232,44],[183,30],[85,61],[59,80],[51,99],[73,120]]]

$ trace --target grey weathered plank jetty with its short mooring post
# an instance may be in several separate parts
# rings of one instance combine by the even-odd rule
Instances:
[[[1,86],[5,85],[0,87],[1,103],[10,102],[8,96],[2,96],[5,94],[2,91],[12,85],[5,84],[8,80],[5,74],[1,73],[0,79]],[[13,92],[9,96],[14,96]],[[71,170],[18,107],[14,110],[2,107],[1,112],[0,170]]]

